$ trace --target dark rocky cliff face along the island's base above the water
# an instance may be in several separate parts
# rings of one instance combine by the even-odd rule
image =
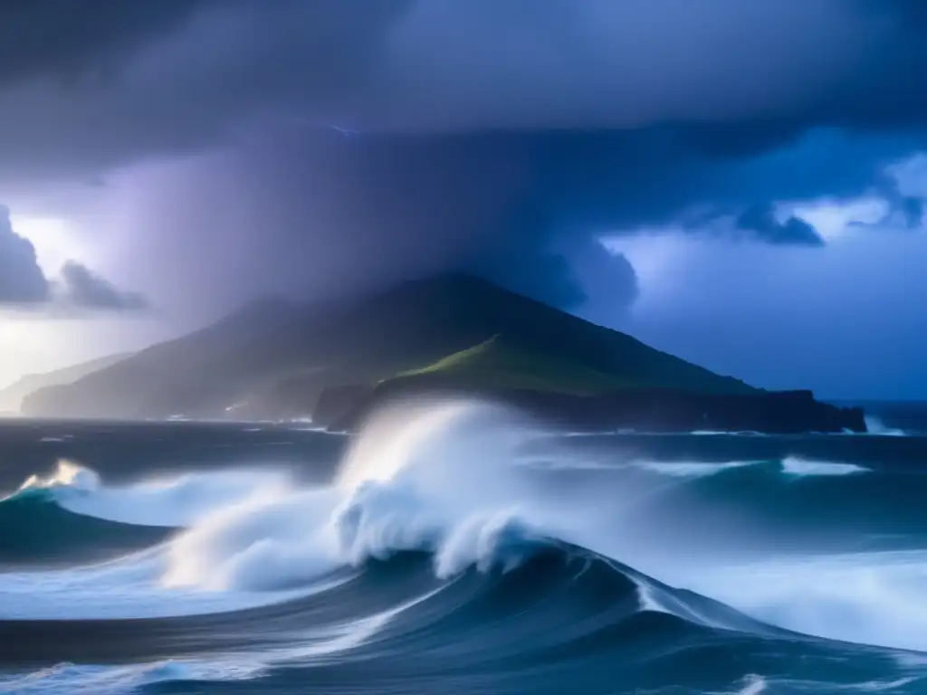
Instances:
[[[439,384],[434,379],[399,379],[377,386],[349,386],[325,392],[313,422],[337,430],[356,429],[375,408],[395,399],[488,398],[513,405],[554,425],[575,429],[633,429],[643,432],[866,432],[864,412],[822,403],[810,391],[755,394],[699,394],[669,389],[633,389],[580,397],[528,390]]]

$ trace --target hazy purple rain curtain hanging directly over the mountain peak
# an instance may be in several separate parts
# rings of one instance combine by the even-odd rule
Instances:
[[[534,146],[484,135],[278,136],[137,183],[161,196],[138,209],[134,247],[147,259],[183,257],[173,277],[232,292],[330,294],[457,270],[575,306],[587,294],[575,257],[599,246],[598,228],[561,215],[562,198],[527,166],[542,154]],[[626,266],[616,260],[616,276],[632,273]]]

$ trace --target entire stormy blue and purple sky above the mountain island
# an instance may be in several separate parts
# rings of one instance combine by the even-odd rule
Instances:
[[[0,385],[463,270],[927,398],[921,0],[10,0],[0,46]]]

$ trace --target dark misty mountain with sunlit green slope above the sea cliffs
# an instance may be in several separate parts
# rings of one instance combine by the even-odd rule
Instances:
[[[369,405],[374,392],[423,388],[530,394],[532,402],[547,394],[553,410],[554,395],[765,394],[629,335],[470,276],[444,274],[325,303],[262,300],[74,384],[43,389],[26,398],[24,409],[122,418],[324,411],[337,419]]]

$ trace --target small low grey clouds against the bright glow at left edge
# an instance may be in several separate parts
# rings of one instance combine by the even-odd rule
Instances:
[[[122,292],[73,260],[64,264],[58,285],[45,276],[32,242],[16,234],[8,208],[0,206],[0,306],[64,304],[87,310],[140,310],[147,306],[145,297]]]

